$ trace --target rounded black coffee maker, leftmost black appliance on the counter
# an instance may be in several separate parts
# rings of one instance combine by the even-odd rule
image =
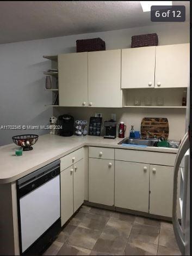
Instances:
[[[61,115],[58,117],[58,125],[62,127],[59,129],[60,136],[72,136],[74,129],[74,117],[70,115]]]

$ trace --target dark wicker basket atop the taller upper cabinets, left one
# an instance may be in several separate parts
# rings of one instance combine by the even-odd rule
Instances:
[[[106,50],[106,42],[101,38],[77,40],[76,46],[77,52]]]

